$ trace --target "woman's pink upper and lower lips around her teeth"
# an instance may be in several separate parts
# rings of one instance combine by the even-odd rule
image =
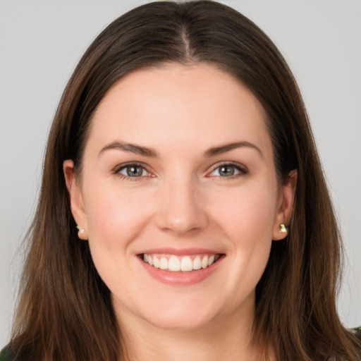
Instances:
[[[155,268],[142,260],[142,254],[161,254],[161,255],[176,255],[176,256],[192,256],[192,255],[221,255],[219,259],[211,266],[205,269],[197,269],[189,272],[182,271],[169,271],[164,269]],[[200,248],[176,250],[173,248],[152,248],[144,250],[141,254],[138,254],[138,259],[145,271],[157,281],[171,285],[192,285],[207,279],[214,274],[224,259],[224,254],[220,252],[214,252],[214,250],[205,250]]]

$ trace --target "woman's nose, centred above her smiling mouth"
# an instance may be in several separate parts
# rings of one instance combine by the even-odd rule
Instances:
[[[191,180],[173,180],[161,190],[157,224],[162,231],[191,235],[208,224],[204,197]]]

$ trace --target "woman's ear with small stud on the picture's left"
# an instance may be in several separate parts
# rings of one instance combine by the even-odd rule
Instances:
[[[87,217],[82,201],[82,190],[75,178],[74,162],[71,159],[63,162],[63,172],[71,201],[71,213],[78,227],[84,230],[78,232],[78,237],[87,240]]]

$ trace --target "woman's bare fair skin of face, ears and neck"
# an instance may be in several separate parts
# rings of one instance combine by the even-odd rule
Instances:
[[[81,176],[64,162],[73,216],[85,229],[79,236],[111,290],[130,360],[257,359],[255,287],[271,240],[286,236],[279,224],[290,221],[296,178],[277,182],[265,118],[253,94],[214,66],[141,69],[99,104]],[[113,142],[157,157],[104,149]],[[235,142],[247,144],[204,155]],[[145,167],[140,177],[117,173],[127,162]],[[221,176],[219,166],[229,162],[235,173]],[[169,285],[137,256],[159,247],[225,257],[207,279]]]

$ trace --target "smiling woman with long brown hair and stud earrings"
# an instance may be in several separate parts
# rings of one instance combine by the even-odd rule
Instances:
[[[360,360],[298,87],[213,1],[147,4],[94,40],[30,238],[15,360]]]

